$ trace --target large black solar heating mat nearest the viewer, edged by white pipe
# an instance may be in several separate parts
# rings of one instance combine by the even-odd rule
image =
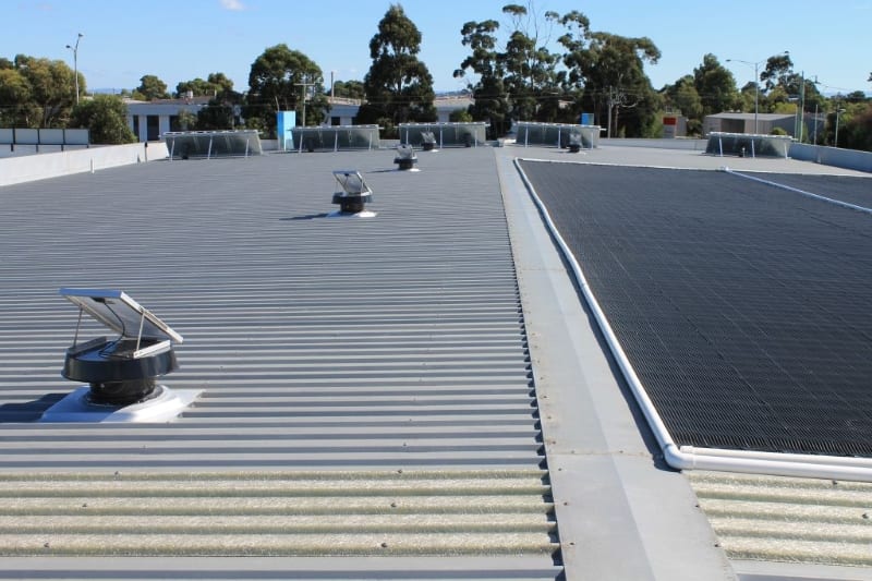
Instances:
[[[521,166],[679,446],[872,456],[872,215],[727,172]]]

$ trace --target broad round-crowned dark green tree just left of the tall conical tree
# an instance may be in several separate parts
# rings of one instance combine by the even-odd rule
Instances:
[[[274,135],[278,111],[296,111],[298,124],[317,125],[328,108],[322,70],[303,52],[280,44],[252,63],[244,108],[250,126]]]

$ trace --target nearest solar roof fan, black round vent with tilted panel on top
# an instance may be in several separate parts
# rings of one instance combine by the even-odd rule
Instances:
[[[158,397],[155,379],[179,367],[172,343],[182,336],[120,290],[61,289],[78,306],[73,344],[66,350],[63,377],[90,385],[88,403],[124,407]],[[87,313],[119,336],[78,342]]]

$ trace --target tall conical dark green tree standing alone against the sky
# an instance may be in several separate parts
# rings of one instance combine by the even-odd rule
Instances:
[[[366,102],[359,122],[378,123],[387,135],[399,123],[435,121],[433,76],[417,59],[421,32],[400,4],[391,4],[370,40],[373,63],[363,80]]]

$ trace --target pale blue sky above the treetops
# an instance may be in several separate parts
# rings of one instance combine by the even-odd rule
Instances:
[[[89,88],[134,88],[155,74],[175,84],[223,72],[247,88],[252,62],[279,43],[300,50],[337,81],[362,80],[368,43],[396,0],[0,0],[0,56],[63,59],[78,46],[78,68]],[[508,0],[405,0],[407,15],[423,35],[420,59],[437,90],[462,88],[451,73],[468,55],[460,28],[468,21],[508,21]],[[526,4],[526,0],[513,0]],[[692,73],[707,52],[736,76],[754,76],[748,62],[790,51],[797,71],[816,77],[824,93],[872,90],[872,0],[535,0],[537,11],[579,10],[595,31],[647,36],[662,59],[646,65],[655,88]],[[659,4],[659,5],[657,5]],[[557,36],[557,35],[555,35]],[[761,65],[762,70],[762,65]]]

